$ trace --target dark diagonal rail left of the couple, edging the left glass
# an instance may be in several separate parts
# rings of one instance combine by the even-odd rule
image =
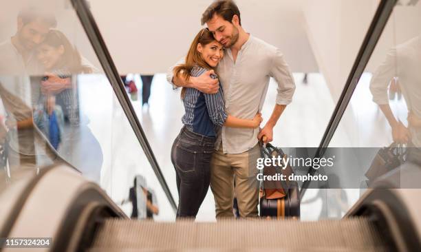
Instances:
[[[72,1],[74,10],[76,11],[76,14],[78,15],[80,19],[80,23],[83,26],[83,29],[85,30],[89,41],[91,42],[92,48],[94,48],[96,56],[98,56],[100,64],[102,65],[102,68],[105,74],[107,75],[107,78],[109,79],[111,86],[113,87],[113,90],[118,98],[118,101],[120,102],[120,105],[122,106],[122,109],[125,112],[127,119],[129,120],[129,123],[131,127],[133,128],[133,131],[136,134],[136,137],[139,140],[140,145],[142,145],[144,154],[147,156],[151,164],[151,167],[153,171],[155,172],[155,175],[157,176],[162,186],[162,189],[164,190],[164,193],[166,194],[166,198],[168,198],[171,204],[171,207],[173,207],[173,210],[176,211],[177,205],[175,204],[175,200],[171,194],[171,191],[168,185],[166,184],[164,175],[162,174],[160,166],[158,165],[158,161],[156,160],[155,155],[153,154],[153,151],[151,149],[151,146],[149,145],[147,137],[144,134],[142,125],[140,125],[138,117],[136,116],[136,112],[133,109],[133,106],[131,105],[129,96],[127,96],[127,92],[122,83],[120,75],[118,74],[116,65],[114,65],[114,61],[111,59],[111,55],[109,54],[109,51],[107,50],[105,41],[102,39],[102,35],[100,34],[100,31],[98,29],[98,26],[96,25],[94,17],[92,16],[85,0],[71,0],[71,1]]]

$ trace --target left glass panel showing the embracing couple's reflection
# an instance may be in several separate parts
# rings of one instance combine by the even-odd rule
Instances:
[[[2,169],[9,180],[19,169],[36,174],[64,160],[104,188],[129,216],[137,195],[139,218],[146,218],[142,200],[149,199],[167,210],[155,219],[172,219],[169,201],[72,4],[13,1],[2,10],[1,136],[8,147]]]

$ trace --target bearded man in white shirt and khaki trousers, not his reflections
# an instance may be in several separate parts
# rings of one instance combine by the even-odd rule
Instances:
[[[226,112],[239,118],[251,119],[263,107],[270,77],[278,83],[277,105],[261,129],[223,127],[219,132],[211,160],[210,188],[215,197],[216,217],[233,217],[233,184],[241,218],[257,217],[259,188],[256,180],[256,160],[260,156],[258,138],[272,141],[276,125],[286,105],[292,101],[295,84],[283,55],[277,48],[255,38],[241,27],[238,7],[233,1],[215,1],[202,14],[215,39],[226,48],[217,67],[224,89]],[[219,84],[210,78],[213,71],[199,77],[173,76],[167,78],[178,87],[194,87],[213,94]]]

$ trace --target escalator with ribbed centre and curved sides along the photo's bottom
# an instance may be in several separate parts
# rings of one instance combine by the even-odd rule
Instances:
[[[374,189],[343,220],[129,220],[69,167],[45,169],[6,237],[52,237],[52,251],[416,251],[419,190]],[[65,187],[66,191],[58,191]],[[57,188],[55,191],[52,190]],[[16,189],[16,188],[13,188]],[[9,193],[11,193],[12,188]],[[48,195],[48,202],[45,202]],[[34,218],[36,213],[36,218]],[[42,228],[40,228],[42,227]],[[5,233],[7,231],[7,233]],[[3,249],[3,251],[15,249]]]

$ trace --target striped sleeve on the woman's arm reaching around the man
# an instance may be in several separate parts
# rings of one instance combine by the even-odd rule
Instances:
[[[208,109],[210,120],[214,125],[222,127],[228,115],[225,112],[224,96],[219,89],[216,94],[204,94],[206,108]]]

